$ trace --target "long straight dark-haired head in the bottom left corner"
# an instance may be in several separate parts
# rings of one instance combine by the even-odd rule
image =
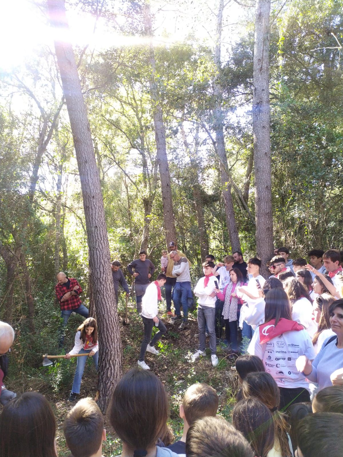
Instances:
[[[26,392],[4,406],[0,416],[1,457],[56,457],[56,421],[45,397]]]

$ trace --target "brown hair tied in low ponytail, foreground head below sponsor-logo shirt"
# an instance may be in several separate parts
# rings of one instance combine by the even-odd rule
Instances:
[[[267,406],[273,416],[275,438],[279,442],[281,454],[283,457],[291,457],[287,437],[289,425],[286,415],[277,409],[280,405],[280,391],[273,377],[266,372],[249,373],[242,383],[242,394],[244,399],[256,397]]]

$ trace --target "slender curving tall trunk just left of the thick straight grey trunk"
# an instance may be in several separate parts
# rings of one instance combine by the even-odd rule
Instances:
[[[214,81],[214,97],[215,108],[214,115],[214,132],[216,142],[216,153],[220,163],[220,181],[222,186],[223,199],[225,202],[226,226],[229,232],[230,244],[232,252],[241,250],[241,243],[238,236],[238,230],[235,220],[235,212],[233,208],[231,185],[229,175],[227,174],[228,165],[225,150],[224,140],[224,114],[222,110],[222,90],[220,87],[220,74],[221,74],[221,58],[220,58],[220,45],[221,45],[221,31],[223,21],[224,0],[219,1],[218,15],[217,15],[217,31],[216,43],[214,48],[214,64],[217,67],[217,78]]]

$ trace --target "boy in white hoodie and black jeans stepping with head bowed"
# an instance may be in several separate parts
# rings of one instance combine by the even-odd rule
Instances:
[[[151,352],[151,354],[159,355],[159,351],[155,349],[155,343],[164,335],[167,331],[165,324],[157,317],[158,314],[158,300],[161,300],[161,287],[165,285],[167,277],[165,274],[160,273],[157,276],[156,281],[151,282],[146,288],[145,294],[142,299],[142,312],[140,315],[143,319],[144,324],[144,339],[140,347],[140,354],[138,360],[138,366],[143,370],[150,370],[150,367],[145,363],[144,356],[145,352]],[[158,327],[159,331],[155,334],[154,338],[150,341],[152,329]],[[149,343],[150,341],[150,343]],[[148,344],[149,343],[149,344]]]

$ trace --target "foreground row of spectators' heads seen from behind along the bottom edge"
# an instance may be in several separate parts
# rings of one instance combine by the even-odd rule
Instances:
[[[122,444],[117,457],[342,455],[342,386],[323,388],[312,404],[301,402],[282,410],[279,388],[257,356],[238,357],[236,371],[240,389],[229,421],[217,415],[214,388],[193,384],[179,405],[183,431],[175,441],[160,379],[139,367],[129,370],[107,409],[108,425]],[[56,428],[48,400],[38,392],[22,393],[0,415],[0,457],[57,457]],[[80,399],[66,414],[63,432],[70,457],[102,456],[104,417],[92,399]]]

